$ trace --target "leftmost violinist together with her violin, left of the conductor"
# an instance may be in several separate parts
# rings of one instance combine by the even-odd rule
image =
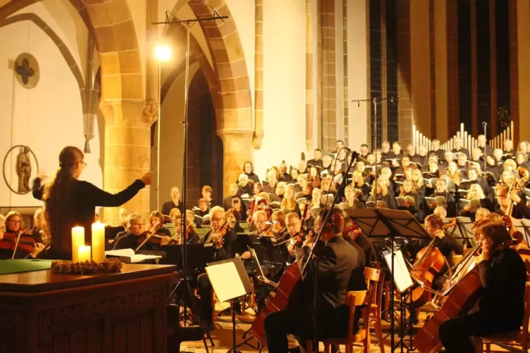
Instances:
[[[13,251],[15,251],[15,259],[37,257],[44,250],[40,234],[32,234],[23,229],[20,213],[16,211],[9,212],[6,215],[5,225],[5,231],[0,238],[0,259],[11,259]],[[19,245],[13,250],[17,239],[19,240]]]

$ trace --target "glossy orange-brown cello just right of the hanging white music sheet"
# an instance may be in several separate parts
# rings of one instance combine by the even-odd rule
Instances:
[[[446,259],[443,257],[438,248],[434,246],[436,236],[431,240],[431,243],[416,255],[415,263],[412,265],[412,271],[410,276],[415,278],[417,281],[422,282],[422,287],[417,287],[412,290],[410,296],[410,303],[415,307],[421,307],[425,303],[429,302],[432,297],[431,290],[434,276],[440,273],[443,265],[446,264]]]

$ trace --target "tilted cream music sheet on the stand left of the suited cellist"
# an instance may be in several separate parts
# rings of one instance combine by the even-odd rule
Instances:
[[[206,273],[208,278],[210,278],[215,295],[217,295],[217,300],[220,302],[226,302],[246,294],[234,262],[208,266],[206,267]]]

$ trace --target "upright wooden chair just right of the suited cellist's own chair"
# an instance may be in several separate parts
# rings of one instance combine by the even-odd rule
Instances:
[[[381,303],[383,301],[384,271],[381,269],[365,268],[367,288],[372,295],[372,305],[368,308],[368,348],[370,349],[370,323],[374,324],[375,335],[379,340],[379,349],[384,353],[383,329],[381,327]],[[371,319],[370,319],[371,318]]]

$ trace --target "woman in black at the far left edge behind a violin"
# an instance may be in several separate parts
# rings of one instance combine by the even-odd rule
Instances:
[[[35,241],[35,245],[32,251],[25,251],[20,248],[17,248],[15,252],[15,259],[37,257],[42,252],[42,250],[44,250],[44,244],[40,233],[32,233],[27,229],[23,229],[22,216],[20,216],[20,213],[16,211],[11,211],[6,215],[5,231],[0,237],[0,242],[6,243],[7,245],[11,245],[11,242],[8,242],[8,240],[4,239],[4,237],[6,237],[7,234],[10,234],[13,236],[13,238],[15,238],[18,236],[18,233],[22,233],[23,236],[27,238],[32,238]],[[0,248],[0,259],[11,259],[12,256],[13,250]]]

